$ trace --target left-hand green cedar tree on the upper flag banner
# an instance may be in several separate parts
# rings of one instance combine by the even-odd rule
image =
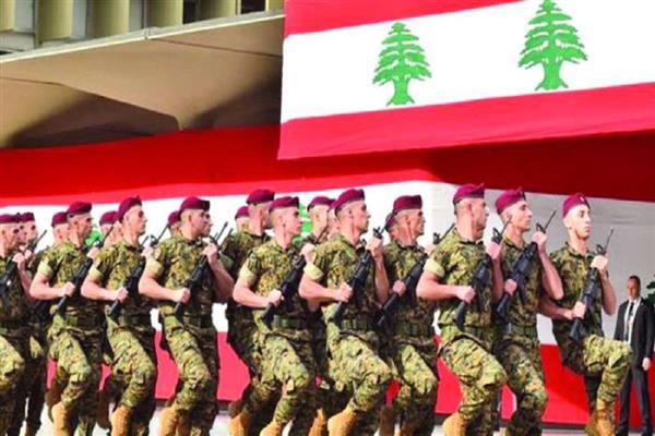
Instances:
[[[409,81],[424,81],[432,76],[424,49],[417,41],[418,37],[412,35],[407,26],[400,22],[391,26],[391,32],[382,41],[384,48],[378,59],[373,84],[393,83],[393,96],[386,106],[414,102],[409,96]]]

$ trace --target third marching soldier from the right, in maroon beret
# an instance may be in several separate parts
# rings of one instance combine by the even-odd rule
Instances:
[[[460,380],[462,401],[457,412],[443,422],[446,436],[465,435],[469,425],[485,427],[493,416],[495,398],[507,382],[500,363],[491,354],[491,292],[502,292],[500,246],[481,242],[487,217],[484,185],[466,184],[453,196],[455,229],[434,249],[419,280],[418,296],[439,302],[440,355]],[[492,283],[475,295],[471,287],[478,263],[489,255]],[[454,320],[460,302],[468,306],[462,328]],[[474,423],[475,421],[475,423]]]

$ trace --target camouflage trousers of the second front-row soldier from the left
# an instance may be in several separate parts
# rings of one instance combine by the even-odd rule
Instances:
[[[49,356],[57,362],[53,384],[63,387],[61,402],[79,416],[78,435],[93,434],[98,404],[103,347],[98,331],[83,332],[53,324]]]

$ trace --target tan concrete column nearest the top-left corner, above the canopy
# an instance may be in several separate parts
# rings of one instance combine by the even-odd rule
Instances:
[[[36,40],[70,38],[73,34],[73,0],[38,0]]]

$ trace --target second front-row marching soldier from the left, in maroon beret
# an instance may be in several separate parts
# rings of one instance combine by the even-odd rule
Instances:
[[[48,330],[49,356],[57,361],[49,402],[53,403],[55,435],[69,435],[73,413],[79,415],[78,434],[91,435],[95,427],[97,389],[100,380],[104,314],[100,304],[84,299],[73,284],[75,274],[88,253],[84,240],[90,234],[92,205],[76,202],[69,206],[69,238],[43,256],[29,290],[39,300],[68,299],[62,313],[55,313]]]

